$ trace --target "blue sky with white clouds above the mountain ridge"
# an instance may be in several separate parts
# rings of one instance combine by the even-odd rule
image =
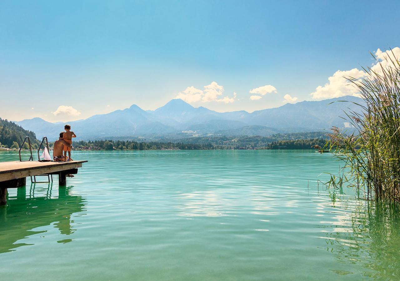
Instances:
[[[66,122],[173,98],[253,112],[355,95],[343,76],[361,79],[370,53],[400,55],[399,11],[400,1],[2,1],[0,118]]]

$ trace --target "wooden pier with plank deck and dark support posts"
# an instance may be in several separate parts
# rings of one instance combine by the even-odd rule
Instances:
[[[34,175],[58,175],[58,185],[66,185],[66,175],[78,173],[78,168],[87,161],[39,162],[9,161],[0,162],[0,205],[7,204],[7,189],[26,184],[26,177]]]

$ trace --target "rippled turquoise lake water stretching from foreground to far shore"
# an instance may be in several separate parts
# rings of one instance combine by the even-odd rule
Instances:
[[[2,280],[400,278],[400,219],[327,189],[305,150],[72,151],[67,187],[9,189]],[[0,161],[18,152],[0,152]]]

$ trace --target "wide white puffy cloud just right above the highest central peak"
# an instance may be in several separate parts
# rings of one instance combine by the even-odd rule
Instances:
[[[236,93],[233,94],[232,98],[225,96],[220,98],[224,93],[224,87],[218,85],[216,82],[211,82],[210,85],[204,86],[204,90],[196,89],[193,86],[186,88],[184,91],[179,92],[175,97],[176,99],[182,99],[185,102],[224,102],[232,103],[236,100]]]

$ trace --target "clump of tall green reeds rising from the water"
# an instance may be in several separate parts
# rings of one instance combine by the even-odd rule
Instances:
[[[392,50],[386,54],[384,63],[364,68],[364,79],[346,77],[362,98],[361,110],[345,112],[354,128],[331,129],[328,146],[344,165],[328,184],[345,182],[366,199],[400,202],[400,62]]]

